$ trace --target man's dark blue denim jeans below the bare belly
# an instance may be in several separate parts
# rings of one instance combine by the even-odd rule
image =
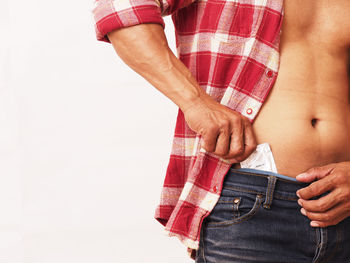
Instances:
[[[231,168],[203,221],[195,262],[350,262],[350,218],[311,227],[296,196],[307,185],[272,172]]]

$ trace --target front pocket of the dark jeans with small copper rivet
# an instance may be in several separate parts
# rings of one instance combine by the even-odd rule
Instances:
[[[263,195],[223,189],[211,213],[205,218],[207,228],[239,224],[252,218],[263,203]]]

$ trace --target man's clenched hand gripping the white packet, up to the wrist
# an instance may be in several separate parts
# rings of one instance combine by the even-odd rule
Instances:
[[[188,126],[202,136],[202,148],[230,163],[245,160],[257,146],[249,119],[213,99],[198,99],[184,115]]]

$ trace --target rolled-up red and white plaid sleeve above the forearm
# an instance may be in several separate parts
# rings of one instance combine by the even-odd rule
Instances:
[[[97,40],[110,43],[107,33],[142,23],[165,28],[163,16],[191,4],[194,0],[94,0],[92,9]]]

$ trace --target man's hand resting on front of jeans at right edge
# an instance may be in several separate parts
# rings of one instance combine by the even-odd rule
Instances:
[[[311,168],[296,179],[305,183],[314,181],[297,191],[301,213],[311,219],[311,226],[336,225],[350,216],[350,162]],[[328,191],[317,200],[309,200]]]

